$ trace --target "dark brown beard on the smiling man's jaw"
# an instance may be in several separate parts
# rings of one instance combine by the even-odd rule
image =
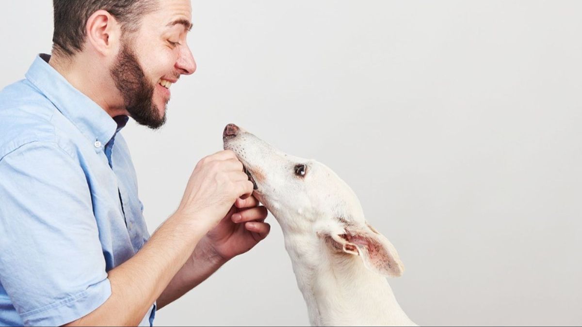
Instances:
[[[166,107],[161,116],[154,104],[155,86],[145,78],[145,73],[133,50],[124,42],[116,63],[110,70],[115,86],[123,96],[125,109],[140,125],[159,129],[166,122]]]

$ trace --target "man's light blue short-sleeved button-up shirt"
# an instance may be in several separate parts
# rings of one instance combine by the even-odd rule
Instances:
[[[49,58],[0,92],[0,325],[87,315],[111,295],[107,272],[150,237],[127,116],[112,119]]]

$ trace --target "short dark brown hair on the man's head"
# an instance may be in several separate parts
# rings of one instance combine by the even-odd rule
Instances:
[[[65,56],[83,51],[87,20],[107,10],[121,24],[122,33],[139,29],[141,18],[158,8],[158,0],[53,0],[55,31],[52,49]]]

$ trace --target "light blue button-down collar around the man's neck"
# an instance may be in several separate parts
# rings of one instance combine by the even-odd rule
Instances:
[[[36,56],[26,79],[40,90],[56,108],[76,126],[91,143],[107,144],[129,119],[111,118],[87,95],[74,88],[69,81],[48,64],[50,55]]]

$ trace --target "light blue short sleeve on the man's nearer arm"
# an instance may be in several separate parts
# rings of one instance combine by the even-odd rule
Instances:
[[[0,158],[0,282],[24,325],[59,326],[111,295],[86,176],[56,143]]]

